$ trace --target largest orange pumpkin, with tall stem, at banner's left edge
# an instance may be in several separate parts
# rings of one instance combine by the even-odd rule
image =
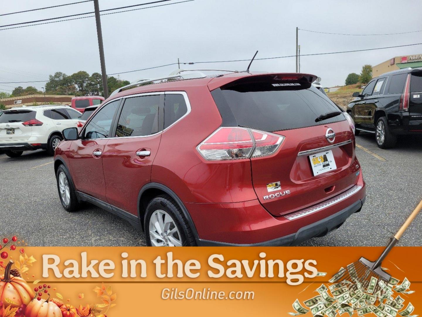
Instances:
[[[0,278],[0,301],[5,307],[28,305],[34,297],[34,293],[22,277],[10,274],[12,264],[13,261],[9,261],[4,276]]]

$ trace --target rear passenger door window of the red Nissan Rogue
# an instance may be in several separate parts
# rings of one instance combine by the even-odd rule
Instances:
[[[160,95],[127,98],[116,128],[116,137],[139,137],[158,132]]]

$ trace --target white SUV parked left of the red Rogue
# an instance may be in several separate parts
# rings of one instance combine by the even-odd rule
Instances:
[[[14,107],[0,116],[0,150],[10,157],[44,149],[53,155],[62,131],[76,127],[81,112],[62,105]]]

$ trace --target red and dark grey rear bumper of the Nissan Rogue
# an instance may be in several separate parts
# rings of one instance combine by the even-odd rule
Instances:
[[[366,197],[362,173],[356,185],[361,188],[351,196],[292,220],[287,219],[290,214],[272,216],[258,199],[232,204],[185,205],[195,223],[200,246],[294,246],[326,235],[359,211]]]

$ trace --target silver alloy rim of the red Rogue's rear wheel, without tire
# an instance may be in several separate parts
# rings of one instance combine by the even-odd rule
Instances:
[[[182,246],[175,221],[164,210],[155,210],[149,220],[149,238],[153,246]]]

